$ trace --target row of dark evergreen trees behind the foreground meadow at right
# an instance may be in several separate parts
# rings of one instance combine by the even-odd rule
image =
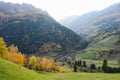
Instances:
[[[120,73],[120,66],[119,67],[111,67],[108,65],[107,60],[105,59],[103,61],[102,66],[96,66],[94,63],[87,63],[85,60],[79,59],[79,60],[69,60],[65,59],[67,64],[71,69],[73,69],[73,72],[105,72],[105,73]],[[118,61],[120,64],[120,60]]]

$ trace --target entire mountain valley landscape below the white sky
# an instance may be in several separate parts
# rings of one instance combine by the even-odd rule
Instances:
[[[56,21],[0,1],[0,80],[120,80],[120,3]]]

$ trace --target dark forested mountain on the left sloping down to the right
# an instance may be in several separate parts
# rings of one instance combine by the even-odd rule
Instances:
[[[87,45],[80,36],[41,9],[28,4],[0,4],[0,37],[24,53],[36,53],[49,43],[61,46],[62,50],[82,49]]]

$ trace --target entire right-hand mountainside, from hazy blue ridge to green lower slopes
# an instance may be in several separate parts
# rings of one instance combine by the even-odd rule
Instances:
[[[67,20],[64,23],[67,23]],[[64,24],[63,23],[63,24]],[[86,13],[65,25],[89,41],[89,46],[80,53],[91,59],[118,59],[120,57],[120,3],[111,5],[101,11]],[[104,50],[111,50],[114,54],[105,54]],[[78,54],[83,56],[82,54]],[[101,57],[102,55],[102,57]],[[86,58],[86,57],[85,57]]]

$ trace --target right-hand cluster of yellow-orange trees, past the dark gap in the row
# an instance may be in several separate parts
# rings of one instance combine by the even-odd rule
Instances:
[[[64,68],[59,66],[58,63],[55,63],[52,59],[40,58],[31,56],[29,59],[29,68],[38,70],[38,71],[47,71],[47,72],[64,72]]]

